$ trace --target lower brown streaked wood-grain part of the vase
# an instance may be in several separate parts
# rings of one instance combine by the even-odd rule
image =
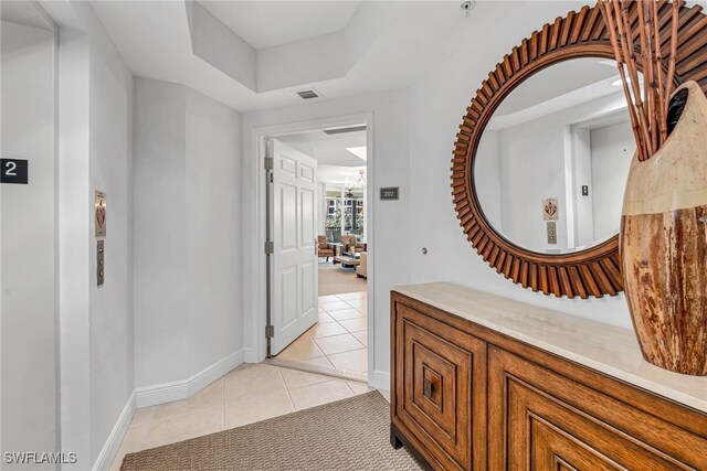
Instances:
[[[623,216],[626,301],[656,366],[707,375],[707,205]]]

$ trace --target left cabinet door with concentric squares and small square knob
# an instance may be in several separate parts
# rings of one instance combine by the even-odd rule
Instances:
[[[485,469],[486,344],[395,306],[394,422],[430,464]]]

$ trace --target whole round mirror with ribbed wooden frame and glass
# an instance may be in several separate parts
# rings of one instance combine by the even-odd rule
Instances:
[[[658,22],[672,14],[663,4]],[[696,38],[704,14],[679,14],[683,34]],[[677,44],[675,85],[705,82],[707,53],[693,44]],[[601,12],[584,6],[504,55],[462,117],[450,169],[456,217],[484,261],[524,288],[558,298],[623,290],[612,235],[634,143],[613,57]]]

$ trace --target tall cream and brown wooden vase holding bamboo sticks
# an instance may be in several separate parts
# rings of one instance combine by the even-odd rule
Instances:
[[[643,356],[707,375],[707,98],[695,82],[663,147],[634,156],[621,221],[624,289]],[[684,94],[684,92],[683,92]]]

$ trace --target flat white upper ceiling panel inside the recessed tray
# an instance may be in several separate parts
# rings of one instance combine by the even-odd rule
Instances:
[[[342,30],[360,1],[200,1],[255,49]]]

